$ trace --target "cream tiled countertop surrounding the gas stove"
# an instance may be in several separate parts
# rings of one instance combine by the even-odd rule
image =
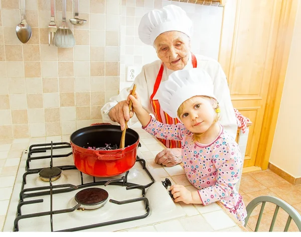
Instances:
[[[182,184],[189,190],[196,190],[185,176],[181,165],[165,167],[155,163],[155,156],[165,147],[139,125],[132,127],[140,136],[141,151],[146,160],[147,169],[156,181],[169,178],[172,184]],[[70,136],[55,136],[32,139],[0,140],[0,228],[6,219],[7,209],[13,192],[20,158],[29,145],[45,142],[69,142]],[[208,206],[201,204],[180,203],[186,217],[163,223],[150,224],[144,227],[124,231],[247,231],[221,203]],[[200,227],[201,226],[201,227]]]

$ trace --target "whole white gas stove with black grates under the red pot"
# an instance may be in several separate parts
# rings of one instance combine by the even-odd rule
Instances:
[[[23,152],[4,231],[118,231],[185,216],[169,179],[153,178],[142,153],[127,172],[92,177],[76,169],[69,143]]]

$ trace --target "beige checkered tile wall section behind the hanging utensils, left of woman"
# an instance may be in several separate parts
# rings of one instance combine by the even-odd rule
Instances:
[[[32,38],[16,36],[19,0],[0,0],[0,139],[69,135],[101,122],[100,108],[119,89],[121,0],[80,0],[82,27],[67,23],[76,46],[48,46],[50,0],[26,0]],[[56,0],[56,25],[62,22]]]

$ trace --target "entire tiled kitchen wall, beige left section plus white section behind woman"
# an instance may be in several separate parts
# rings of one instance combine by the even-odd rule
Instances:
[[[82,27],[68,22],[76,46],[63,49],[48,46],[50,0],[26,0],[33,31],[27,44],[16,36],[19,0],[0,3],[0,139],[69,135],[101,122],[101,106],[119,86],[131,84],[125,80],[127,66],[139,68],[157,59],[137,34],[150,10],[182,7],[194,21],[192,51],[218,55],[222,8],[168,0],[80,0],[79,17],[88,22]],[[62,1],[56,0],[57,26],[61,9]],[[71,18],[72,0],[67,0]]]

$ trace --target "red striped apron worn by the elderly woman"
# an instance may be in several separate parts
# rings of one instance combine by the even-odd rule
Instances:
[[[196,56],[194,56],[194,54],[191,54],[191,56],[192,56],[192,65],[193,65],[194,68],[196,68],[197,67]],[[157,90],[158,90],[159,85],[161,83],[163,70],[164,70],[164,65],[162,63],[161,68],[159,70],[159,73],[157,75],[157,79],[156,79],[156,82],[155,82],[153,94],[150,96],[150,104],[152,104],[153,113],[156,116],[156,120],[158,120],[159,122],[161,122],[163,124],[179,124],[181,122],[178,120],[178,118],[172,118],[170,115],[168,115],[166,112],[164,112],[161,109],[161,106],[160,106],[160,103],[159,103],[158,99],[153,99],[155,94],[157,93]],[[165,139],[159,139],[159,140],[167,148],[181,148],[181,141],[165,140]]]

